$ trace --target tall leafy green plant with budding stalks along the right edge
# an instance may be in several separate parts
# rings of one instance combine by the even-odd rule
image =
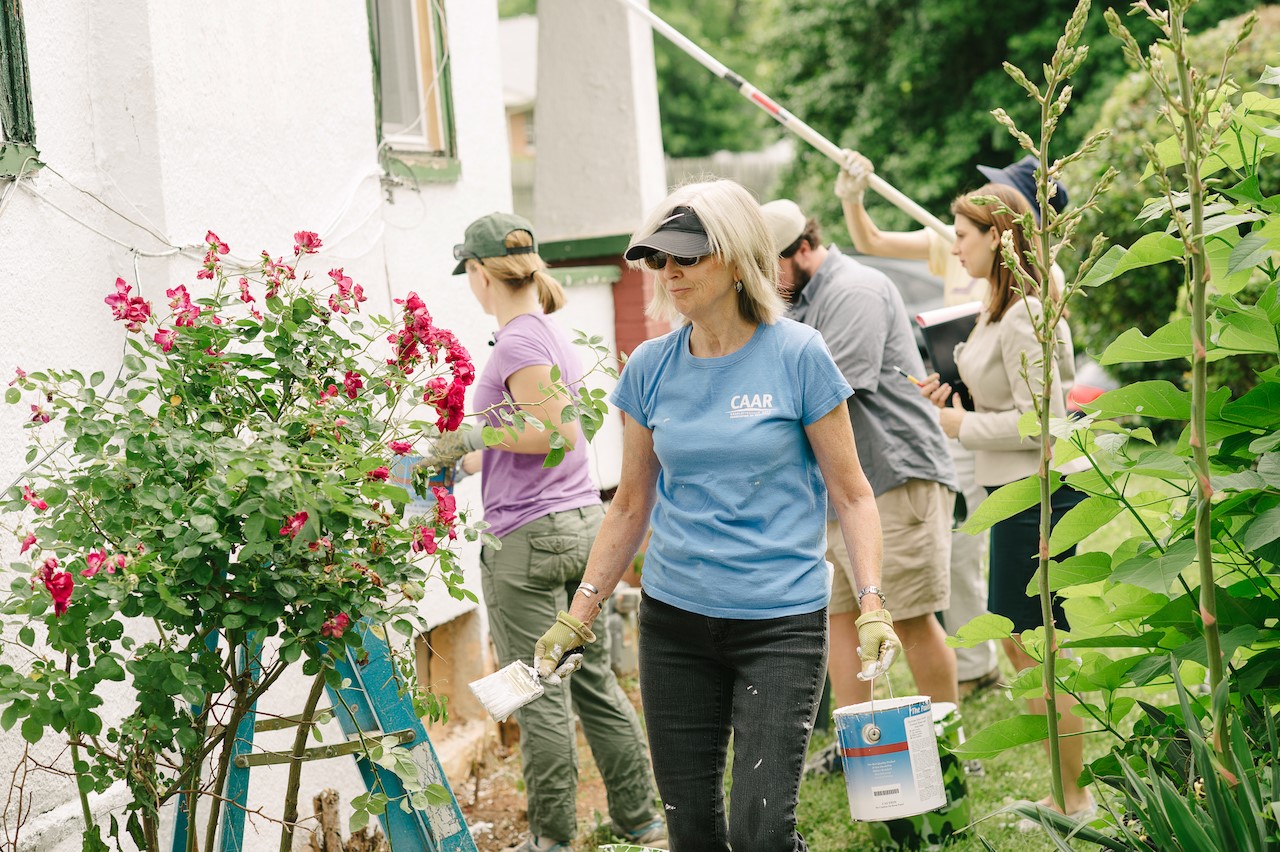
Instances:
[[[1217,696],[1216,701],[1184,696],[1197,716],[1211,723],[1194,736],[1207,737],[1219,752],[1201,760],[1199,771],[1211,769],[1235,788],[1244,768],[1233,745],[1238,734],[1226,718],[1265,720],[1280,700],[1280,624],[1275,619],[1280,604],[1280,266],[1275,261],[1280,196],[1260,191],[1266,185],[1263,170],[1280,154],[1280,99],[1236,91],[1221,67],[1213,74],[1196,69],[1187,59],[1185,33],[1176,38],[1172,33],[1183,26],[1187,5],[1174,0],[1167,13],[1156,13],[1146,3],[1135,5],[1169,32],[1149,54],[1135,55],[1162,75],[1172,132],[1146,146],[1148,178],[1158,193],[1140,212],[1151,230],[1129,247],[1108,249],[1078,285],[1117,285],[1128,271],[1179,264],[1192,316],[1149,336],[1130,330],[1103,353],[1102,362],[1180,358],[1193,367],[1199,361],[1202,368],[1193,375],[1202,388],[1197,393],[1165,381],[1138,383],[1102,395],[1087,407],[1084,418],[1050,425],[1060,439],[1056,450],[1064,457],[1083,455],[1091,468],[1068,477],[1088,498],[1053,528],[1048,555],[1114,519],[1132,533],[1105,551],[1042,563],[1038,583],[1041,591],[1047,582],[1062,594],[1071,615],[1071,636],[1062,645],[1076,659],[1061,661],[1053,681],[1079,698],[1079,711],[1097,730],[1115,737],[1114,753],[1094,761],[1088,778],[1128,794],[1137,792],[1135,773],[1155,791],[1144,801],[1156,802],[1166,816],[1181,819],[1176,814],[1183,814],[1203,821],[1217,816],[1203,807],[1172,809],[1165,783],[1179,796],[1194,798],[1194,778],[1179,780],[1162,769],[1164,780],[1151,778],[1152,766],[1167,762],[1157,755],[1169,747],[1169,737],[1130,738],[1128,730],[1134,716],[1134,730],[1149,727],[1146,720],[1164,718],[1149,702],[1178,688],[1180,679],[1208,679],[1213,686],[1206,693]],[[1123,38],[1119,19],[1112,26]],[[1248,24],[1228,52],[1247,35]],[[1133,52],[1134,43],[1126,43]],[[1274,91],[1277,83],[1280,72],[1268,69],[1258,86]],[[1261,292],[1257,303],[1236,298],[1245,287]],[[1199,329],[1197,313],[1203,322]],[[1231,388],[1207,386],[1203,365],[1245,356],[1267,365],[1252,389],[1233,398]],[[1137,414],[1192,425],[1176,445],[1160,446],[1149,430],[1115,420]],[[974,526],[1034,504],[1029,491],[1020,484],[1006,486],[983,504]],[[988,618],[961,635],[978,641],[998,636],[1000,627]],[[1042,688],[1039,674],[1014,683],[1015,695],[1037,688]],[[1043,738],[1043,725],[1037,732],[1025,723],[992,725],[964,751],[982,756]],[[1189,746],[1187,753],[1194,748]],[[1254,751],[1261,775],[1275,775],[1275,755]],[[1268,789],[1270,798],[1257,810],[1261,837],[1276,830],[1276,793]]]

